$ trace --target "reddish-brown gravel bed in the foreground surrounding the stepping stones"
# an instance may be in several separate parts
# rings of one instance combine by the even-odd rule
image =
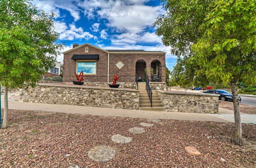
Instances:
[[[0,167],[254,167],[256,126],[243,124],[245,144],[230,144],[233,123],[103,117],[10,110],[9,128],[0,130]],[[153,124],[153,122],[152,122]],[[131,127],[146,131],[133,134]],[[114,134],[132,137],[128,144],[111,141]],[[113,159],[93,161],[88,151],[109,146]],[[191,156],[186,146],[200,156]]]

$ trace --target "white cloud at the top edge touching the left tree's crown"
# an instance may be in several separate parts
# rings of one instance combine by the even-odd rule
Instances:
[[[56,17],[60,17],[59,8],[67,10],[74,17],[74,21],[77,21],[80,19],[80,11],[76,6],[76,2],[76,0],[34,0],[32,3],[47,13],[55,13]]]

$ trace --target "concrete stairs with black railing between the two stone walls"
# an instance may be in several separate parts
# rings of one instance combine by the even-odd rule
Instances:
[[[146,82],[138,82],[139,98],[140,98],[140,110],[150,111],[164,111],[162,100],[160,99],[157,91],[152,91],[152,107],[148,94],[146,92]]]

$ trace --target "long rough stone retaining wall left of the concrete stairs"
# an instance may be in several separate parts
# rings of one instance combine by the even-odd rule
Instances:
[[[20,99],[24,102],[139,109],[139,92],[134,89],[39,83],[36,88],[25,91]]]

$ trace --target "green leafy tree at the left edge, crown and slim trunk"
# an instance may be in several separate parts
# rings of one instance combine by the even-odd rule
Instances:
[[[0,1],[0,83],[5,89],[3,128],[7,128],[7,90],[35,87],[54,65],[62,45],[55,44],[53,14],[27,0]]]

